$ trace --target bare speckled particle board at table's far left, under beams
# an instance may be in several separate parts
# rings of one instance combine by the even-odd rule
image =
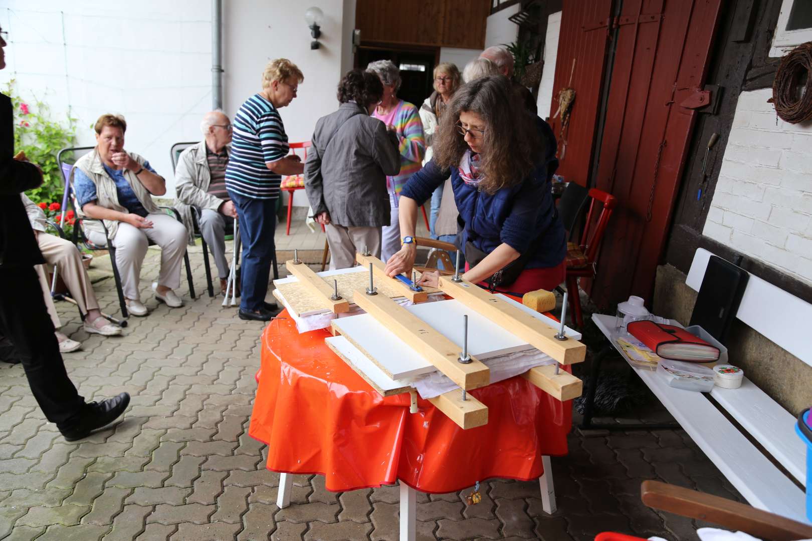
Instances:
[[[296,265],[299,266],[299,265]],[[348,303],[354,303],[352,294],[355,290],[364,290],[369,286],[369,272],[352,272],[332,274],[328,276],[316,275],[321,279],[324,284],[330,289],[330,294],[333,290],[333,280],[338,282],[339,295],[341,295]],[[332,311],[328,303],[332,301],[328,298],[325,302],[323,298],[303,286],[300,281],[287,281],[274,280],[274,286],[283,294],[287,303],[297,316],[312,316],[323,311]],[[375,287],[378,289],[378,294],[386,295],[390,298],[402,298],[400,290],[390,284],[381,283],[380,280],[375,282]]]

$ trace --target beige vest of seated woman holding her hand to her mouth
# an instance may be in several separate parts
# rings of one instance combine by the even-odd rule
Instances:
[[[143,157],[140,157],[135,152],[129,152],[129,154],[133,160],[137,161],[140,165],[144,165],[146,160]],[[94,148],[93,152],[89,152],[83,157],[80,157],[79,160],[76,161],[76,166],[73,171],[76,171],[76,169],[82,170],[82,172],[88,175],[88,178],[93,181],[93,184],[96,185],[96,204],[100,207],[110,208],[110,210],[117,210],[119,213],[128,212],[127,208],[119,204],[119,192],[115,189],[113,179],[110,178],[110,175],[104,170],[102,158],[99,156],[97,148]],[[71,186],[73,185],[73,171],[71,171]],[[129,182],[132,191],[135,192],[140,204],[144,205],[148,213],[161,213],[161,209],[158,208],[158,205],[152,200],[152,195],[149,193],[149,190],[147,190],[146,187],[141,184],[140,180],[138,180],[138,177],[136,177],[135,171],[125,170],[124,178],[127,178],[127,182]],[[88,217],[81,208],[76,209],[76,214],[78,217]],[[83,222],[83,224],[85,231],[96,231],[99,234],[104,234],[104,227],[97,221]],[[104,225],[107,227],[107,236],[111,240],[115,238],[115,234],[119,230],[119,221],[105,220]]]

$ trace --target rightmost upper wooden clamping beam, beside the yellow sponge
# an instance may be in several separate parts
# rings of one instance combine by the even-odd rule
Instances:
[[[561,364],[582,363],[585,359],[586,346],[580,341],[556,340],[555,328],[469,281],[455,282],[441,276],[440,289]]]

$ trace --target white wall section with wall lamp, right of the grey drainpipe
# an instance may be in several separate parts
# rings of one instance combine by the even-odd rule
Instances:
[[[287,58],[304,74],[298,96],[279,111],[291,142],[308,141],[318,118],[338,108],[335,97],[347,62],[345,48],[352,47],[351,36],[343,24],[344,2],[308,0],[298,2],[255,2],[228,0],[223,13],[224,107],[233,115],[240,105],[261,87],[261,75],[267,62]],[[304,11],[318,6],[324,12],[322,44],[310,50],[310,31]],[[349,7],[348,7],[349,9]],[[352,14],[354,24],[355,14]],[[302,191],[294,204],[307,206]]]

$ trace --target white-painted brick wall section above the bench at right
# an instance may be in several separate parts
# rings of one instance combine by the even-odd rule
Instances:
[[[771,97],[741,93],[702,234],[812,284],[812,122],[776,122]]]

